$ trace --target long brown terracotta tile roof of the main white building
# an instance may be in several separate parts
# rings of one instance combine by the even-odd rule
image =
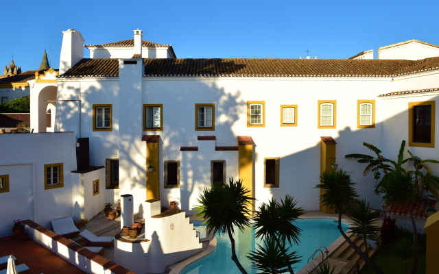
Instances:
[[[143,59],[148,77],[394,77],[439,69],[425,60],[352,59]],[[60,77],[114,77],[117,59],[83,59]]]

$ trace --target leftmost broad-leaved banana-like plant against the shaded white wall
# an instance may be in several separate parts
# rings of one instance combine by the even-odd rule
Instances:
[[[376,156],[354,153],[354,154],[344,155],[344,158],[358,159],[357,162],[368,164],[363,171],[363,175],[366,176],[370,171],[372,171],[374,178],[377,182],[376,184],[376,188],[377,188],[378,179],[381,177],[381,173],[379,173],[379,170],[381,169],[381,171],[383,171],[383,173],[386,174],[388,173],[388,171],[391,170],[391,166],[385,164],[385,162],[389,162],[389,160],[385,158],[383,155],[381,155],[381,150],[379,150],[374,145],[368,144],[367,142],[363,142],[363,145],[364,147],[367,147],[368,149],[373,151],[376,154]]]

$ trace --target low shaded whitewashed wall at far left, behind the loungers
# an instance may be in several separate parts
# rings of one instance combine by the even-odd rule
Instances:
[[[1,134],[0,174],[9,174],[10,191],[0,193],[0,237],[12,234],[13,220],[32,219],[50,227],[53,219],[72,216],[70,172],[76,169],[73,132]],[[44,189],[45,164],[64,164],[64,187]]]

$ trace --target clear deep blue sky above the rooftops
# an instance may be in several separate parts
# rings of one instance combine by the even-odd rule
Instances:
[[[0,74],[14,62],[58,69],[62,31],[84,44],[132,39],[172,45],[178,58],[349,58],[410,39],[439,45],[439,1],[2,1]],[[88,58],[88,50],[84,50]]]

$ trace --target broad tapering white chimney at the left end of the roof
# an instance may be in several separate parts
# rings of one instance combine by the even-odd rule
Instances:
[[[67,29],[62,33],[60,75],[84,58],[84,38],[80,32],[75,31],[75,29]]]

